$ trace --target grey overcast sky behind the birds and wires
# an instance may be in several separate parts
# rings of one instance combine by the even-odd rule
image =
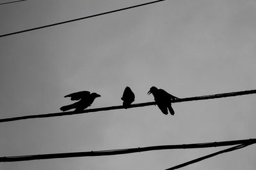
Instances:
[[[7,2],[7,1],[4,1]],[[28,0],[0,6],[0,34],[148,1]],[[0,118],[59,112],[66,94],[91,108],[256,87],[256,1],[179,0],[0,38]],[[0,157],[255,138],[255,95],[1,123]],[[3,170],[166,169],[223,148],[0,163]],[[254,145],[183,169],[255,169]]]

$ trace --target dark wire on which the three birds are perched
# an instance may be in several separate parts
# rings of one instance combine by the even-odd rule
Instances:
[[[179,102],[185,102],[185,101],[199,101],[199,100],[206,100],[206,99],[216,99],[221,97],[232,97],[232,96],[242,96],[247,94],[255,94],[256,90],[245,90],[240,92],[229,92],[229,93],[223,93],[223,94],[213,94],[208,96],[197,96],[197,97],[187,97],[183,99],[173,99],[172,103],[179,103]],[[128,108],[138,108],[138,107],[144,107],[144,106],[150,106],[155,105],[156,102],[148,102],[148,103],[137,103],[137,104],[131,104]],[[0,119],[1,122],[12,122],[16,120],[25,120],[30,118],[46,118],[46,117],[61,117],[66,115],[78,115],[83,113],[91,113],[91,112],[97,112],[97,111],[107,111],[107,110],[119,110],[119,109],[125,109],[124,106],[109,106],[104,108],[94,108],[94,109],[88,109],[83,111],[66,111],[66,112],[58,112],[58,113],[46,113],[46,114],[40,114],[40,115],[28,115],[28,116],[22,116],[22,117],[13,117],[13,118],[2,118]]]

